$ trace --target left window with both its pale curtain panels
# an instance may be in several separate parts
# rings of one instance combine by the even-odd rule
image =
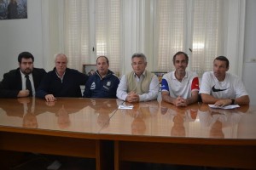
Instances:
[[[106,55],[109,69],[119,72],[119,0],[66,0],[64,3],[64,50],[69,66],[82,71]]]

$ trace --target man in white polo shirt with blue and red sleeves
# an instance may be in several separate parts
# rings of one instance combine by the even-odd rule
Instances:
[[[172,58],[175,71],[162,78],[162,99],[176,106],[187,106],[198,101],[199,80],[192,71],[186,71],[189,56],[177,52]]]

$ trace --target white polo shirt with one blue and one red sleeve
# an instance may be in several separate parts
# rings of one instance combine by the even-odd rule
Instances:
[[[172,98],[181,96],[183,99],[191,97],[193,91],[199,91],[199,80],[195,72],[186,71],[182,82],[175,77],[175,71],[165,74],[161,83],[162,92],[169,92]]]

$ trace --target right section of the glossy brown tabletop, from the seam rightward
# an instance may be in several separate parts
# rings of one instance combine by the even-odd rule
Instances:
[[[133,105],[132,110],[117,110],[101,133],[237,139],[247,133],[242,132],[243,128],[250,128],[251,136],[247,138],[256,138],[256,129],[250,127],[253,124],[244,122],[247,117],[256,121],[256,114],[250,112],[248,105],[233,110],[213,110],[201,103],[176,107],[156,100]]]

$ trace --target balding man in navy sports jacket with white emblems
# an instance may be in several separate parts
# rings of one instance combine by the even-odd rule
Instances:
[[[85,83],[84,98],[116,98],[119,77],[108,70],[109,61],[106,56],[96,59],[96,73]]]

